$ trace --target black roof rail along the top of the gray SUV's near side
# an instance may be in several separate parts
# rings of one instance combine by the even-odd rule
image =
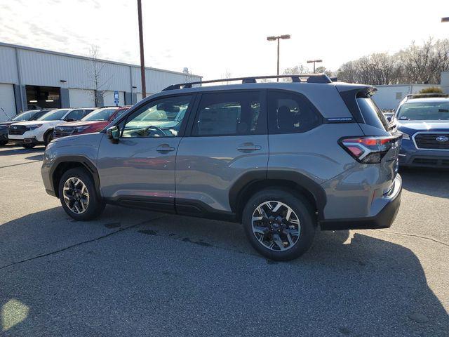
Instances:
[[[303,78],[306,78],[302,80]],[[229,81],[241,81],[242,84],[257,83],[257,79],[292,79],[293,82],[307,82],[307,83],[332,83],[332,80],[326,74],[291,74],[291,75],[269,75],[256,77],[234,77],[232,79],[210,79],[208,81],[187,82],[180,84],[172,84],[164,88],[162,91],[176,90],[182,88],[192,88],[194,84],[207,84]]]

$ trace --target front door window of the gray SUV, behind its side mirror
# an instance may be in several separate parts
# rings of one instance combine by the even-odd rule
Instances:
[[[192,95],[154,100],[128,117],[121,136],[176,137],[191,102]]]

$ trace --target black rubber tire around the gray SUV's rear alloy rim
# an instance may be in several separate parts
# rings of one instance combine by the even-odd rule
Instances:
[[[274,249],[279,249],[279,245],[274,244],[274,241],[271,241],[272,244],[274,244],[274,249],[269,249],[267,246],[264,246],[262,242],[266,243],[270,242],[269,239],[265,241],[262,239],[262,242],[257,239],[256,235],[259,235],[261,237],[261,234],[256,234],[253,232],[253,214],[256,211],[257,207],[261,204],[266,203],[267,201],[280,201],[282,204],[290,207],[291,210],[293,210],[293,214],[295,216],[295,220],[299,220],[300,225],[297,225],[299,227],[299,236],[296,237],[290,237],[290,239],[295,239],[293,245],[290,245],[286,241],[286,237],[284,236],[284,239],[281,241],[284,242],[284,244],[290,246],[290,248],[284,250],[284,251],[276,251]],[[276,206],[276,204],[274,204]],[[282,206],[285,207],[285,206]],[[276,208],[276,207],[274,207]],[[287,212],[287,208],[284,208],[285,213]],[[278,212],[283,212],[282,209],[279,209]],[[258,213],[258,212],[257,212]],[[256,213],[256,214],[257,214]],[[269,213],[265,213],[266,215],[269,215]],[[275,214],[275,213],[272,213]],[[290,213],[291,214],[291,213]],[[282,213],[280,213],[282,218]],[[270,217],[271,218],[271,217]],[[291,218],[291,216],[290,216]],[[296,219],[297,218],[297,219]],[[260,220],[262,226],[266,225],[267,223],[264,223],[265,218],[263,220]],[[283,220],[279,220],[282,225],[285,225],[286,218]],[[276,221],[274,221],[276,223]],[[303,253],[305,253],[311,246],[314,236],[315,236],[315,229],[316,229],[316,220],[314,217],[314,209],[313,207],[307,202],[306,199],[301,198],[300,196],[296,196],[293,192],[290,192],[289,190],[282,190],[279,188],[267,188],[264,190],[261,190],[260,192],[257,192],[251,197],[246,204],[245,208],[243,209],[242,214],[242,223],[243,228],[246,233],[246,237],[248,238],[250,244],[253,246],[253,248],[260,253],[262,256],[272,259],[272,260],[280,260],[280,261],[286,261],[286,260],[293,260],[295,258],[298,258]],[[291,226],[294,226],[293,224],[289,224]],[[288,226],[288,225],[286,225]],[[270,235],[276,234],[276,229],[273,229],[272,225],[268,225],[269,229],[266,231],[267,237],[270,237]],[[288,228],[285,228],[286,230]],[[280,229],[282,231],[282,227]],[[272,232],[274,231],[274,233]],[[279,231],[279,230],[278,230]],[[282,234],[284,235],[284,234]],[[272,237],[272,236],[271,236]],[[278,237],[279,238],[279,237]],[[285,247],[284,247],[285,249]]]

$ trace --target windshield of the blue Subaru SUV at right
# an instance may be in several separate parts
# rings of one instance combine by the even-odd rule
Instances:
[[[403,121],[448,121],[449,100],[405,103],[399,109],[396,118]]]

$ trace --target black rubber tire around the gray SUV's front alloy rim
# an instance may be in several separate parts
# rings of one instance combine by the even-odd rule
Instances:
[[[76,213],[75,211],[72,211],[72,209],[70,209],[65,202],[63,188],[69,178],[77,178],[81,180],[81,183],[83,183],[83,185],[85,185],[88,190],[88,204],[86,206],[86,210],[82,213]],[[100,216],[102,211],[105,209],[105,202],[102,201],[102,199],[98,196],[95,189],[95,183],[85,169],[69,169],[64,174],[62,174],[62,177],[58,183],[58,191],[62,208],[65,210],[65,213],[67,213],[75,220],[91,220]]]

